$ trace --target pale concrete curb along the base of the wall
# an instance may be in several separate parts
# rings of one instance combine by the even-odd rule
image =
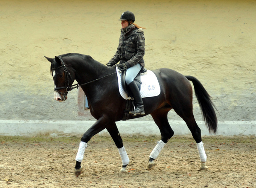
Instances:
[[[37,120],[0,120],[1,136],[37,136],[39,134],[81,136],[96,121],[37,121]],[[204,121],[197,121],[201,134],[209,136]],[[119,121],[116,122],[121,135],[160,135],[154,121]],[[184,121],[169,121],[175,135],[191,134]],[[108,133],[103,130],[100,134]],[[256,136],[256,121],[220,121],[218,133],[223,136]]]

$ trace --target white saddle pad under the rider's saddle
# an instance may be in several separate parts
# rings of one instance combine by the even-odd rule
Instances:
[[[122,83],[121,83],[121,73],[119,72],[118,67],[116,67],[116,73],[118,78],[118,87],[119,87],[119,93],[127,100],[128,95],[125,93]],[[140,81],[141,81],[141,88],[140,88],[140,95],[142,98],[145,97],[154,97],[160,94],[160,85],[157,80],[156,75],[151,70],[147,70],[146,74],[140,75]]]

